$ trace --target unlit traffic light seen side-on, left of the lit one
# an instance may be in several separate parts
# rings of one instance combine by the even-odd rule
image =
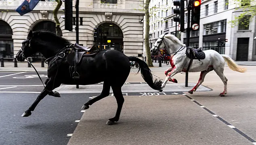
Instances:
[[[178,17],[174,17],[173,21],[174,22],[179,22],[180,23],[180,31],[184,32],[184,0],[174,0],[173,1],[174,6],[179,6],[179,8],[174,8],[173,13],[178,14]]]

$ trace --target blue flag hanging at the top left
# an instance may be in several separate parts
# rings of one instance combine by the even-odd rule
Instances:
[[[38,4],[40,0],[25,0],[17,9],[16,12],[18,12],[21,16],[23,14],[27,14],[28,12],[32,11],[35,6]]]

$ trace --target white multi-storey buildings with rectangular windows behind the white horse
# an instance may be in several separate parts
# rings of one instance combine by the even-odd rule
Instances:
[[[163,4],[169,8],[166,12],[159,11],[159,17],[163,17],[159,23],[154,17],[150,19],[150,33],[152,34],[151,45],[162,33],[175,34],[175,23],[173,17],[173,0],[151,0],[150,6],[160,6]],[[167,5],[166,5],[167,4]],[[254,2],[250,2],[254,5]],[[186,2],[185,2],[186,6]],[[227,54],[237,61],[256,60],[256,26],[255,16],[252,22],[246,26],[238,24],[231,27],[230,21],[235,16],[243,13],[241,4],[233,0],[202,0],[199,31],[191,31],[190,46],[203,50],[213,49],[220,54]],[[238,8],[238,9],[237,9]],[[177,24],[178,25],[178,24]],[[155,29],[154,29],[155,28]],[[185,9],[185,29],[187,28],[187,9]],[[178,27],[177,27],[178,29]],[[186,44],[186,33],[178,31],[177,37]]]

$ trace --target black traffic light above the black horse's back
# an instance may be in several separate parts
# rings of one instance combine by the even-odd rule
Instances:
[[[65,3],[65,7],[61,7],[61,10],[64,10],[65,15],[62,15],[61,18],[65,20],[65,30],[73,30],[73,4],[72,0],[61,0]]]

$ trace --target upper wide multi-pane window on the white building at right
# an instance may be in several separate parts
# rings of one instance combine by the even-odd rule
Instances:
[[[221,20],[204,25],[204,35],[226,32],[227,20]]]

